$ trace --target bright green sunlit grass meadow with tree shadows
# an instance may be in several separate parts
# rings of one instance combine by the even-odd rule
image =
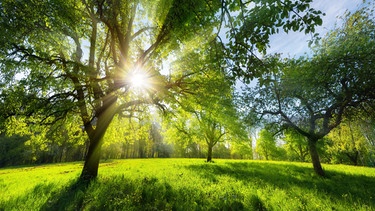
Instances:
[[[77,184],[82,163],[0,169],[0,210],[375,210],[375,169],[198,159],[103,162]]]

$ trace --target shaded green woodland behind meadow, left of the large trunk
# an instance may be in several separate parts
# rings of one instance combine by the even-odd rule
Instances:
[[[77,118],[67,117],[49,126],[30,122],[30,118],[8,118],[0,138],[0,166],[82,160],[86,135]],[[38,121],[38,120],[34,120]]]

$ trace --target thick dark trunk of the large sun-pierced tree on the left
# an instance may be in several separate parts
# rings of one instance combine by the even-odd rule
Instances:
[[[89,149],[81,173],[81,180],[90,181],[98,176],[99,160],[103,145],[103,136],[115,115],[117,97],[108,96],[97,112],[96,128],[89,135]]]

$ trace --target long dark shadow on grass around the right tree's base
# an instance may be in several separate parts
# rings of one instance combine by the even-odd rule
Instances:
[[[216,182],[218,176],[228,176],[244,184],[264,188],[271,186],[290,192],[297,187],[314,192],[317,198],[327,196],[336,202],[343,201],[375,207],[375,180],[364,175],[349,175],[327,171],[327,178],[314,174],[313,169],[293,164],[266,162],[228,162],[225,164],[194,164],[186,167],[202,179]],[[303,192],[302,192],[303,193]],[[349,202],[349,203],[350,203]],[[340,203],[340,202],[339,202]]]

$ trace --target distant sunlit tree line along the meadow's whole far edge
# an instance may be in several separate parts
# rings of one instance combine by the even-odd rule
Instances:
[[[25,127],[24,123],[15,119],[10,124],[12,127],[0,136],[0,167],[84,159],[87,137],[79,125],[66,122]],[[319,143],[322,163],[375,166],[375,129],[372,124],[374,120],[345,120]],[[176,136],[179,136],[178,132],[172,134],[155,121],[143,121],[141,124],[115,118],[105,136],[101,158],[207,157],[208,146],[204,140],[191,136],[192,139],[183,142],[175,139]],[[311,162],[304,136],[293,130],[275,133],[272,128],[260,130],[253,142],[220,142],[213,147],[212,157]]]

